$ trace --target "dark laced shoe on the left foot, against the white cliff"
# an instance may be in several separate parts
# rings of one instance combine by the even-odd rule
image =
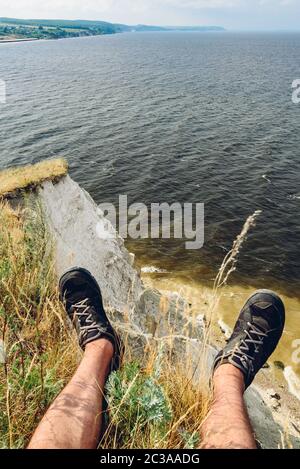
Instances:
[[[100,287],[94,277],[85,269],[71,269],[61,277],[59,293],[76,328],[80,347],[84,350],[95,340],[109,340],[115,351],[112,370],[117,370],[123,346],[106,316]]]

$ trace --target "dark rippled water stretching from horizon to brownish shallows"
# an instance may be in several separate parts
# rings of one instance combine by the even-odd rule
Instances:
[[[145,33],[0,45],[0,166],[64,156],[97,202],[204,202],[206,242],[136,241],[141,264],[210,282],[263,213],[233,281],[300,283],[300,34]]]

